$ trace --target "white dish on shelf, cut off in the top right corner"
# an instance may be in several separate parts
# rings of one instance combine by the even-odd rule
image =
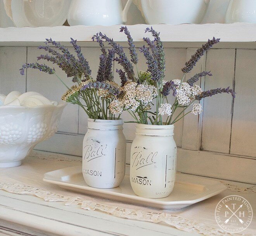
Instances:
[[[255,0],[230,0],[225,16],[225,23],[256,23]]]

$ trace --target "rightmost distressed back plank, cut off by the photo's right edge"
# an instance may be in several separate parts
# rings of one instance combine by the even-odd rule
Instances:
[[[237,50],[230,153],[256,156],[256,50]]]

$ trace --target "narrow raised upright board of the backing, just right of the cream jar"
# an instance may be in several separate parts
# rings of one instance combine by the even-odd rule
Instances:
[[[191,56],[195,53],[197,49],[188,48],[187,49],[187,59],[188,61]],[[200,73],[205,70],[205,58],[206,56],[202,56],[202,58],[197,62],[195,67],[189,74],[186,74],[186,80],[192,77],[194,74]],[[199,79],[195,84],[201,86],[204,89],[204,78]],[[203,105],[203,101],[201,101]],[[185,110],[185,113],[191,111],[192,106]],[[192,113],[184,116],[183,118],[183,134],[182,134],[182,148],[190,149],[190,150],[199,150],[201,144],[201,125],[202,125],[202,114],[194,115]]]

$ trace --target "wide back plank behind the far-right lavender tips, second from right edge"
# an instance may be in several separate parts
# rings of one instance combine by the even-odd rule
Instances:
[[[206,59],[206,70],[213,76],[205,80],[205,90],[232,88],[235,68],[234,49],[211,49]],[[229,153],[232,96],[218,94],[204,99],[202,150]]]

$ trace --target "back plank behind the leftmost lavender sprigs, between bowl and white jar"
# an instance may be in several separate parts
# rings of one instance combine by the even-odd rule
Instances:
[[[36,47],[28,47],[28,62],[35,62],[36,57],[42,53],[43,51],[38,50]],[[50,62],[45,62],[45,64],[53,67]],[[72,78],[67,78],[66,74],[58,66],[55,65],[54,68],[56,74],[64,80],[67,86],[71,87],[73,85]],[[67,90],[55,75],[42,73],[39,70],[28,69],[27,78],[28,91],[40,92],[48,99],[61,101],[62,94]],[[78,106],[74,104],[67,105],[61,116],[59,131],[78,133]]]

